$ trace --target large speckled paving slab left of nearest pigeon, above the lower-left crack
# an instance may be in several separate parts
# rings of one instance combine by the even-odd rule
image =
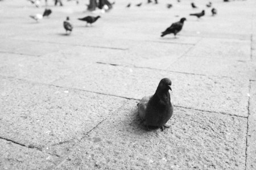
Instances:
[[[0,81],[0,137],[44,151],[82,138],[125,101],[23,80]],[[57,147],[52,153],[65,151]]]

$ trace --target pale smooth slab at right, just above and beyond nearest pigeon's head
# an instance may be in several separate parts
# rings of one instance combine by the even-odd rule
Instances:
[[[172,63],[167,70],[253,79],[256,77],[255,66],[251,61],[184,56]]]

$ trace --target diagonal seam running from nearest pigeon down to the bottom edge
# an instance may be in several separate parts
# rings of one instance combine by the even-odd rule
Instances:
[[[113,114],[115,114],[115,113],[117,113],[118,111],[120,111],[120,110],[123,108],[123,106],[124,106],[125,104],[126,104],[126,101],[123,101],[123,104],[121,105],[121,107],[119,107],[118,109],[116,109],[112,114],[109,114],[106,118],[104,118],[104,120],[100,121],[96,126],[94,126],[92,129],[90,129],[90,130],[84,135],[84,137],[82,137],[81,139],[78,140],[79,142],[73,143],[73,145],[72,145],[72,147],[73,147],[72,150],[70,150],[70,151],[68,152],[68,154],[62,156],[62,157],[61,157],[61,160],[59,160],[59,163],[58,163],[57,165],[55,165],[55,167],[53,167],[53,168],[51,168],[51,169],[60,168],[61,165],[62,165],[63,163],[65,163],[66,159],[67,159],[68,156],[72,153],[72,151],[75,150],[77,144],[79,144],[79,143],[82,141],[82,139],[84,139],[84,138],[86,138],[86,137],[89,137],[89,133],[90,133],[91,131],[93,131],[94,129],[96,129],[100,124],[102,124],[102,122],[104,122],[105,120],[107,120],[109,117],[113,116]],[[56,145],[57,145],[57,144],[56,144]]]

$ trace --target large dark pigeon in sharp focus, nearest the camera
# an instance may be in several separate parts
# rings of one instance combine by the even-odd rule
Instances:
[[[174,107],[171,103],[169,93],[169,90],[172,90],[171,84],[170,79],[163,78],[160,80],[155,94],[145,96],[139,102],[139,117],[141,117],[141,120],[146,125],[147,130],[148,127],[161,128],[162,131],[164,128],[170,128],[165,124],[174,113]]]

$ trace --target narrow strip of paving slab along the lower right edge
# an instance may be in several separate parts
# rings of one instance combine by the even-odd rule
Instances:
[[[256,168],[256,82],[251,81],[251,91],[250,91],[250,107],[248,116],[248,134],[247,134],[247,162],[246,169]]]

